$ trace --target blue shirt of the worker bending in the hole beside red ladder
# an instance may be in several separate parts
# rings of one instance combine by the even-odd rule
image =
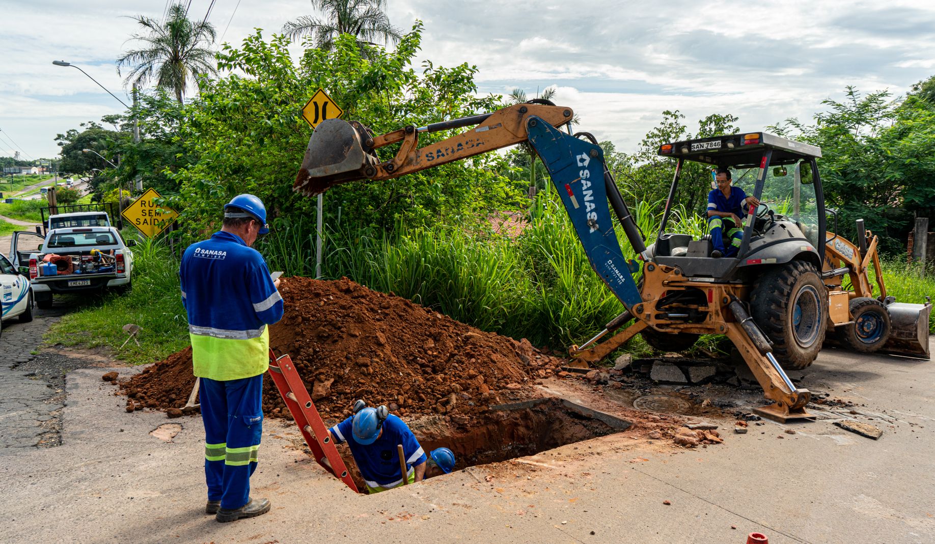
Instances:
[[[412,473],[412,465],[422,465],[425,462],[425,452],[410,431],[409,426],[395,415],[390,414],[383,422],[383,434],[372,444],[366,446],[353,438],[353,416],[339,422],[329,429],[339,443],[347,442],[351,447],[353,460],[360,468],[360,474],[370,487],[396,487],[402,483],[399,472],[398,444],[403,445],[403,454],[406,456],[407,478]]]

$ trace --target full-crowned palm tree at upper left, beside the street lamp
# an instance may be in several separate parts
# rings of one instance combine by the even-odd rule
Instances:
[[[218,73],[214,51],[203,47],[214,43],[214,26],[206,21],[191,21],[181,4],[169,8],[163,23],[145,15],[131,19],[145,29],[145,34],[131,37],[143,42],[144,47],[127,51],[117,59],[118,74],[122,67],[132,68],[124,84],[132,80],[134,85],[143,86],[155,79],[156,87],[174,92],[181,103],[182,94],[195,75]]]

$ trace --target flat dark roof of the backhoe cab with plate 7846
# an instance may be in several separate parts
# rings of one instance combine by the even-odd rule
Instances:
[[[739,133],[672,142],[659,146],[660,156],[718,166],[759,165],[764,150],[772,150],[770,165],[790,165],[820,158],[821,148],[766,132]]]

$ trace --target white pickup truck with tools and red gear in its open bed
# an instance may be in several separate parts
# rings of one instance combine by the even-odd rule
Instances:
[[[136,240],[123,242],[110,226],[51,229],[43,237],[31,232],[13,233],[10,256],[13,265],[28,267],[36,306],[50,308],[52,294],[125,291],[131,285]]]

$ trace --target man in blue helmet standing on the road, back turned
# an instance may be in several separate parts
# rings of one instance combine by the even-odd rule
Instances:
[[[181,259],[181,300],[188,313],[194,375],[205,422],[208,505],[218,522],[269,511],[250,497],[263,425],[266,325],[282,318],[282,297],[266,262],[252,249],[266,234],[266,208],[252,194],[224,206],[223,228],[189,246]]]

